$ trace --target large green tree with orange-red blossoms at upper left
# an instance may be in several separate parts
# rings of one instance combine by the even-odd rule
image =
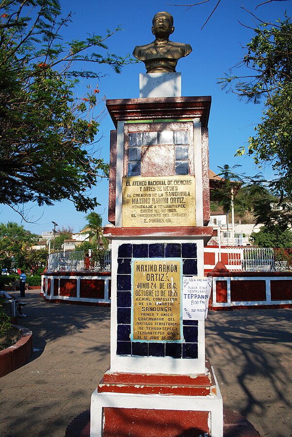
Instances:
[[[108,176],[94,143],[98,85],[82,99],[74,92],[80,78],[99,79],[86,63],[120,72],[125,59],[106,53],[115,31],[65,43],[69,23],[58,0],[0,1],[0,203],[20,214],[23,203],[63,199],[85,212],[98,205],[91,187]]]

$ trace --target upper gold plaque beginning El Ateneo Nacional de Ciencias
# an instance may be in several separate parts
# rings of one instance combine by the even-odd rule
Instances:
[[[196,226],[195,177],[123,177],[122,226]]]

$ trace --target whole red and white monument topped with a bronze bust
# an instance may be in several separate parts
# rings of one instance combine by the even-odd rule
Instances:
[[[191,47],[170,42],[173,30],[168,13],[155,15],[156,42],[134,50],[151,87],[140,78],[140,99],[107,101],[116,128],[113,226],[104,232],[112,240],[110,368],[91,397],[91,437],[223,435],[204,339],[211,97],[178,95],[175,67]]]

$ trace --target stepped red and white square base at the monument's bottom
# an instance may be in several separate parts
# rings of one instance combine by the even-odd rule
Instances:
[[[106,372],[91,396],[91,437],[222,437],[213,369],[199,375]]]

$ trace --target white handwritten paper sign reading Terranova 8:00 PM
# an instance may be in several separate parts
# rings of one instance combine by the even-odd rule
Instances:
[[[183,278],[183,320],[203,320],[208,314],[212,278]]]

